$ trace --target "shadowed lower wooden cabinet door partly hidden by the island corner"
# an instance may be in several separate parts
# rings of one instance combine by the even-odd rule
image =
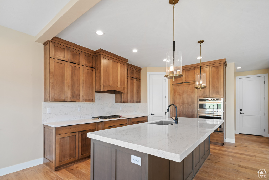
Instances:
[[[96,129],[79,131],[79,158],[91,155],[91,138],[87,137],[87,133],[96,131]]]

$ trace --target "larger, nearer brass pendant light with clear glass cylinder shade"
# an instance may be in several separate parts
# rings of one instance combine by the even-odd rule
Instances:
[[[182,64],[182,52],[175,51],[175,4],[179,0],[169,0],[169,4],[173,5],[174,10],[174,41],[173,41],[173,51],[166,53],[166,75],[164,77],[168,79],[180,78],[181,74],[181,64]]]

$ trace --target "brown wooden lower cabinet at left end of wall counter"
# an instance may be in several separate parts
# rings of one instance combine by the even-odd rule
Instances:
[[[44,125],[44,163],[53,171],[90,157],[90,138],[87,133],[96,130],[96,123],[62,127]]]

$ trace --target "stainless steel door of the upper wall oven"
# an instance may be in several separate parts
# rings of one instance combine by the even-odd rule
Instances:
[[[223,101],[214,101],[214,102],[198,101],[197,111],[223,112]]]

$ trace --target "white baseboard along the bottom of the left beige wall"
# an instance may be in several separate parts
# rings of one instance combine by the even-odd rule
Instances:
[[[43,163],[43,158],[39,158],[32,161],[24,162],[21,164],[16,164],[13,166],[2,168],[0,169],[0,176],[6,175],[12,172],[20,171],[22,169],[30,168],[30,167],[33,167],[42,163]]]

